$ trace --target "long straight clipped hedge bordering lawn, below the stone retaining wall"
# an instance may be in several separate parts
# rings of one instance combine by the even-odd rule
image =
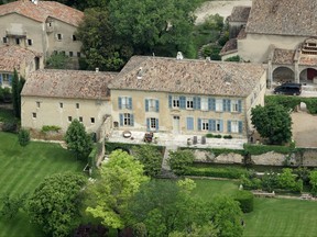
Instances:
[[[242,168],[220,167],[188,167],[185,176],[216,177],[227,179],[239,179],[241,176],[249,176],[249,171]]]

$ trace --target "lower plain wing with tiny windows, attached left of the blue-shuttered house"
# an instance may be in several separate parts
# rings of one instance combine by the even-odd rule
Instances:
[[[108,83],[116,72],[36,70],[21,93],[21,123],[41,131],[45,125],[66,132],[73,120],[96,132],[111,114]]]

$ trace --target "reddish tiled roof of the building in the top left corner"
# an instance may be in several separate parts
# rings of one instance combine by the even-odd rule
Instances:
[[[45,22],[48,16],[78,26],[84,18],[84,12],[54,1],[14,1],[0,5],[0,15],[17,13],[39,22]]]

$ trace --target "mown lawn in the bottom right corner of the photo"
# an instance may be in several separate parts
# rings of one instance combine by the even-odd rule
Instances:
[[[245,215],[244,236],[316,236],[317,202],[255,199],[254,211]]]

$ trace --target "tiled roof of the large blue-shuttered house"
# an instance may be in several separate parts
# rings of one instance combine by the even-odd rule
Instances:
[[[260,64],[133,56],[109,88],[247,97],[263,74]]]

